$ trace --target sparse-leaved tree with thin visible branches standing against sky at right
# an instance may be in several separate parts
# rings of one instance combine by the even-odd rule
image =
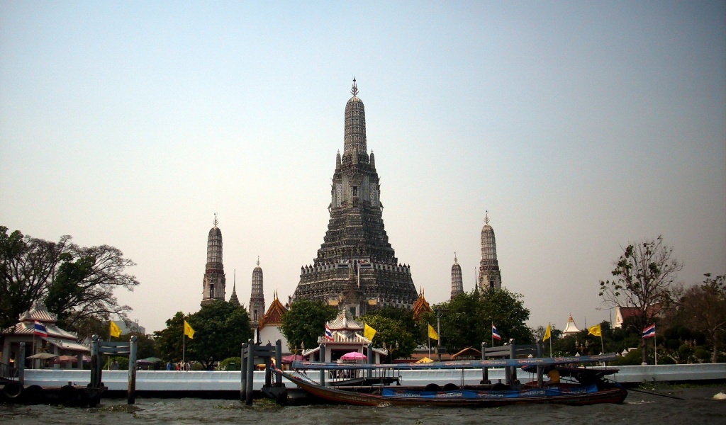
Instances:
[[[614,278],[600,281],[600,297],[613,307],[635,307],[635,324],[643,329],[672,302],[674,279],[682,268],[673,248],[663,244],[663,236],[629,244],[611,272]],[[640,339],[640,347],[645,363],[645,339]]]

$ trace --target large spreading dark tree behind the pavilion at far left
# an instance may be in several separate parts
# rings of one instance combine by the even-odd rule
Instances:
[[[0,226],[0,326],[12,326],[17,317],[43,300],[58,315],[59,326],[76,330],[86,318],[106,321],[121,318],[131,308],[118,305],[113,291],[133,290],[139,284],[124,273],[134,262],[114,247],[78,247],[70,236],[48,242],[20,231],[7,234]]]

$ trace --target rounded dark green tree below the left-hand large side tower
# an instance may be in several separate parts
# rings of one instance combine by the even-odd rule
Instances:
[[[203,305],[187,322],[195,331],[187,341],[187,358],[205,369],[240,354],[242,342],[253,337],[247,310],[222,300]]]

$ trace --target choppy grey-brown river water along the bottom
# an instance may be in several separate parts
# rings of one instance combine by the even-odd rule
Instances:
[[[268,400],[246,406],[236,400],[104,399],[98,408],[0,405],[0,424],[726,424],[726,400],[714,400],[722,387],[659,389],[685,398],[629,392],[624,404],[504,408],[394,408],[308,405],[279,407]]]

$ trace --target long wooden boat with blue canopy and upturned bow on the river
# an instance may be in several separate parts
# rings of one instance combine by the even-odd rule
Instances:
[[[592,405],[597,403],[622,403],[627,391],[617,384],[605,380],[605,376],[615,374],[616,368],[592,369],[572,367],[571,365],[614,360],[616,355],[592,355],[566,358],[526,358],[502,360],[464,360],[439,363],[393,363],[393,364],[350,364],[318,363],[295,361],[292,368],[300,370],[335,371],[396,371],[420,369],[465,369],[465,368],[524,368],[537,372],[537,381],[520,384],[446,384],[443,388],[436,384],[426,387],[406,387],[385,384],[367,385],[321,385],[305,374],[298,372],[275,371],[293,381],[310,395],[330,403],[350,405],[393,405],[393,406],[456,406],[456,407],[497,407],[532,403],[556,403],[566,405]],[[543,375],[548,372],[549,381]],[[387,373],[387,372],[386,372]],[[383,374],[381,374],[383,377]],[[573,381],[560,381],[560,376],[569,376]],[[373,381],[368,379],[367,381]],[[381,380],[383,382],[383,379]],[[390,380],[389,380],[390,381]]]

